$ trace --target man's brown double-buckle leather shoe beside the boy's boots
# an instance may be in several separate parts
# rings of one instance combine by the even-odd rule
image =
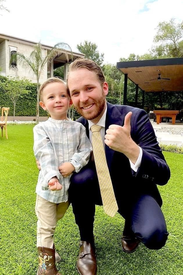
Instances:
[[[80,241],[77,269],[80,275],[96,275],[95,249],[89,242]]]

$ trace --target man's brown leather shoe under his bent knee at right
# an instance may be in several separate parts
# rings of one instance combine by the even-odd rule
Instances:
[[[140,240],[134,236],[123,236],[121,238],[122,250],[126,253],[134,252],[139,246]]]

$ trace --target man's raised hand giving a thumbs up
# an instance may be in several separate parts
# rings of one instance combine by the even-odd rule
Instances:
[[[125,116],[124,125],[110,125],[106,131],[105,144],[111,149],[125,154],[133,163],[139,156],[139,146],[132,140],[130,135],[130,118],[132,112]]]

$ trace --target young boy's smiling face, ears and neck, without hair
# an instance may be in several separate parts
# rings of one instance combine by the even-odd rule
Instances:
[[[42,91],[40,106],[48,111],[53,119],[67,119],[67,110],[71,104],[72,100],[68,95],[67,86],[63,83],[49,83]]]

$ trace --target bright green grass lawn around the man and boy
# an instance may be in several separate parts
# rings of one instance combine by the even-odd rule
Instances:
[[[8,140],[0,137],[0,275],[35,275],[37,271],[35,187],[38,170],[33,155],[34,125],[8,125]],[[164,152],[171,169],[168,184],[159,187],[162,210],[169,231],[159,251],[142,244],[132,254],[121,250],[124,220],[112,219],[96,207],[95,241],[98,275],[179,275],[182,272],[182,179],[183,155]],[[46,211],[46,209],[45,209]],[[79,231],[71,206],[58,222],[55,246],[61,255],[58,270],[75,275]]]

